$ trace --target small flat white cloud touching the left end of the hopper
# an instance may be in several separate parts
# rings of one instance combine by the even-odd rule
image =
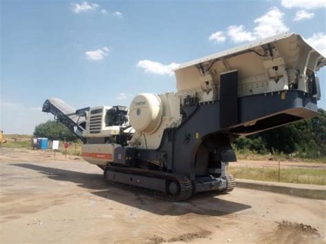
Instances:
[[[173,76],[173,70],[176,69],[180,64],[171,63],[169,65],[163,65],[162,63],[153,62],[151,60],[140,60],[137,67],[144,69],[146,73],[169,75]]]

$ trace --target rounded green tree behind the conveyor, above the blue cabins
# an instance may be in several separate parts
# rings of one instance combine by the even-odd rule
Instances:
[[[33,135],[35,137],[46,137],[50,140],[62,140],[68,142],[78,140],[78,137],[69,131],[66,126],[54,120],[48,120],[45,123],[35,126]]]

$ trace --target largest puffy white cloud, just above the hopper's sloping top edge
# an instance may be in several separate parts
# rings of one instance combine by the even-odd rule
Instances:
[[[284,23],[284,13],[276,7],[270,8],[268,12],[255,19],[254,23],[256,26],[252,30],[246,30],[243,25],[230,25],[227,34],[231,41],[235,43],[254,41],[289,31],[289,27]]]

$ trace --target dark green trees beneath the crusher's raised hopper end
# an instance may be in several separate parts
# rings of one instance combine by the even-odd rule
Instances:
[[[319,109],[318,113],[317,117],[309,120],[237,138],[235,146],[257,153],[276,151],[286,154],[296,153],[300,157],[325,157],[326,112]]]

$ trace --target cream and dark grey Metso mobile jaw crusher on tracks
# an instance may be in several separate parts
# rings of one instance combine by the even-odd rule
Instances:
[[[129,109],[75,110],[52,98],[43,112],[78,135],[109,184],[182,201],[235,187],[233,137],[316,116],[325,64],[301,36],[280,34],[184,63],[177,92],[140,93]]]

